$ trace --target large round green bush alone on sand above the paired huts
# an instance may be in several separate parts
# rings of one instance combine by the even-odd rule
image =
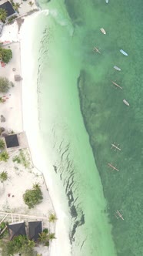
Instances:
[[[23,194],[23,200],[29,209],[35,207],[36,204],[40,204],[42,199],[42,190],[39,184],[34,184],[32,190],[26,190]]]

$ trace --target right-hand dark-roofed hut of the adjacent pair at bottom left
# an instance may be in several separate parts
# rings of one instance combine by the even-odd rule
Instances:
[[[42,233],[42,221],[28,222],[28,237],[30,240],[38,241],[40,233]]]

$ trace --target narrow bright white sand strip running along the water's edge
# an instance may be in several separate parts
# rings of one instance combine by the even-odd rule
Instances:
[[[34,14],[35,15],[35,14]],[[26,20],[24,22],[24,25],[22,25],[22,29],[25,30],[25,32],[22,31],[21,29],[21,34],[23,33],[23,36],[25,38],[26,35],[26,26],[32,25],[32,23],[29,25],[28,20],[30,19],[29,22],[33,22],[34,24],[34,19],[35,17],[29,16],[26,17]],[[27,24],[25,24],[27,23]],[[30,33],[30,32],[29,32]],[[22,84],[25,85],[26,83],[30,83],[30,86],[22,86],[22,101],[23,101],[23,123],[24,123],[24,130],[26,131],[27,137],[28,137],[28,145],[30,152],[32,154],[32,162],[34,163],[34,166],[36,169],[40,170],[42,175],[44,176],[45,184],[47,185],[49,189],[49,195],[52,201],[52,205],[55,211],[55,214],[60,221],[56,221],[55,224],[55,239],[52,241],[52,244],[50,246],[50,256],[55,256],[55,255],[62,255],[64,248],[62,248],[62,241],[63,237],[65,239],[65,244],[67,241],[68,244],[68,234],[66,234],[67,231],[65,231],[65,212],[62,210],[62,207],[59,204],[58,201],[58,190],[55,191],[53,190],[53,184],[54,180],[52,179],[50,172],[48,171],[52,167],[52,158],[48,157],[49,160],[49,165],[45,163],[44,157],[42,157],[45,153],[43,152],[42,149],[42,143],[41,143],[41,135],[40,135],[40,128],[39,128],[39,115],[38,115],[38,91],[37,91],[37,86],[36,84],[36,77],[34,75],[34,70],[29,71],[29,69],[26,67],[24,64],[26,61],[26,56],[25,56],[25,49],[28,50],[26,53],[26,56],[28,56],[29,59],[34,62],[32,57],[32,42],[27,41],[27,45],[25,40],[21,39],[21,58],[22,58]],[[30,56],[30,57],[29,57]],[[34,63],[31,63],[31,69],[34,68]],[[33,80],[32,77],[35,77]],[[32,95],[32,98],[31,98]],[[29,123],[31,123],[31,118],[30,115],[28,116],[28,109],[31,109],[31,114],[32,114],[32,126],[34,126],[34,130],[30,129]],[[36,140],[35,140],[36,138]],[[71,245],[70,245],[71,246]],[[59,254],[59,251],[62,251],[61,254]],[[71,248],[69,248],[68,251],[71,251]],[[67,251],[65,251],[65,254],[68,256]],[[71,253],[69,253],[69,256]]]

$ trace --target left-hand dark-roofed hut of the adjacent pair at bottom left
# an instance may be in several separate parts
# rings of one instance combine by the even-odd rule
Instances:
[[[25,222],[15,222],[12,224],[8,224],[8,234],[9,234],[9,240],[11,241],[14,237],[17,237],[18,235],[26,235],[25,231]]]

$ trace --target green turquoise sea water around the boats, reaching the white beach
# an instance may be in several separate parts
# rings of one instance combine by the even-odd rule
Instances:
[[[141,0],[39,4],[50,10],[38,16],[33,46],[41,131],[67,198],[72,255],[142,255]]]

